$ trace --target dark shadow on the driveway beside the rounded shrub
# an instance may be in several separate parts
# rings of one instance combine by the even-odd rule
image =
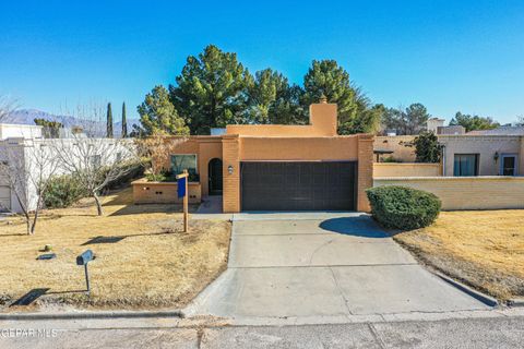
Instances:
[[[323,220],[319,227],[346,236],[384,239],[391,238],[401,231],[389,230],[379,226],[373,218],[367,215],[357,217],[341,217]]]

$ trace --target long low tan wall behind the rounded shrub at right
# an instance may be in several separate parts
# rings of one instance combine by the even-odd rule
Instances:
[[[374,178],[373,186],[405,185],[431,192],[442,209],[524,208],[524,177]]]

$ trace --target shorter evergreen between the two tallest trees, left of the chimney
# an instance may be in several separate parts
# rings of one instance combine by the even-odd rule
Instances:
[[[267,68],[254,74],[248,86],[247,119],[255,123],[305,123],[300,87],[289,86],[287,77]]]

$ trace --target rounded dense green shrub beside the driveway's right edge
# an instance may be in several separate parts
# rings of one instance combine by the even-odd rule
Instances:
[[[427,227],[437,219],[442,206],[437,195],[407,186],[378,186],[366,193],[373,218],[386,228]]]

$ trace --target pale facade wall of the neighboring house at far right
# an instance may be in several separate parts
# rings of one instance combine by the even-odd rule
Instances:
[[[500,155],[521,154],[522,136],[504,135],[439,135],[444,145],[444,176],[453,176],[455,154],[479,154],[478,174],[497,176],[500,172]],[[495,154],[499,154],[496,161]],[[524,174],[520,161],[520,174]]]

